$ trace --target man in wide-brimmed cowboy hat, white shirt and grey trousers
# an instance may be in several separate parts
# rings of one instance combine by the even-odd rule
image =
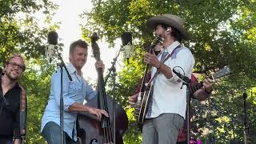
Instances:
[[[182,18],[173,14],[150,18],[146,25],[164,41],[158,56],[145,55],[144,61],[152,66],[151,78],[157,70],[160,73],[154,78],[154,92],[142,127],[142,143],[175,144],[186,118],[186,87],[181,89],[182,81],[172,70],[175,68],[191,78],[194,57],[188,48],[180,44],[182,40],[190,39],[190,34],[185,30]]]

